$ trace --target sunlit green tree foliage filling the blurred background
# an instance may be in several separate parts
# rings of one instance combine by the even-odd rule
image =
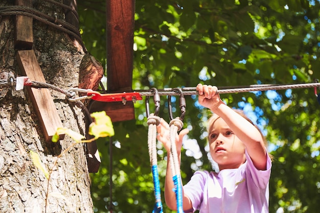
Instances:
[[[103,1],[80,1],[83,40],[89,52],[105,64]],[[133,85],[193,87],[310,83],[320,78],[319,11],[315,0],[224,0],[135,2]],[[221,94],[232,107],[245,108],[266,132],[275,157],[270,179],[270,212],[317,212],[320,182],[319,103],[313,88]],[[168,121],[166,97],[161,114]],[[198,169],[211,170],[204,148],[205,120],[210,112],[197,98],[186,98],[186,144],[196,139],[202,157],[182,153],[182,178]],[[173,107],[176,102],[173,101]],[[178,110],[177,110],[178,111]],[[143,101],[135,104],[136,121],[114,124],[112,200],[115,212],[150,212],[153,184],[147,151]],[[177,113],[177,112],[175,112]],[[204,122],[204,123],[202,123]],[[194,140],[192,140],[194,141]],[[95,211],[110,206],[109,146],[100,142],[102,165],[92,175]],[[119,146],[118,146],[119,147]],[[188,156],[187,156],[187,155]],[[166,153],[159,153],[161,186]],[[163,199],[164,202],[164,199]],[[165,206],[165,212],[169,209]]]

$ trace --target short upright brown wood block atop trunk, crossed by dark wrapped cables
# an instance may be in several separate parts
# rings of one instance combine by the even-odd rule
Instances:
[[[32,8],[32,0],[16,0],[15,5]],[[33,18],[24,15],[15,17],[14,45],[18,50],[31,50],[33,45]]]

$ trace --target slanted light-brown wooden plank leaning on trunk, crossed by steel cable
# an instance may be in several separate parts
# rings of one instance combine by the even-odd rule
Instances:
[[[18,51],[17,62],[21,73],[29,77],[31,81],[39,81],[45,83],[42,70],[37,61],[33,50]],[[28,92],[41,124],[43,135],[46,141],[51,141],[52,136],[56,133],[58,127],[62,127],[62,123],[51,97],[49,89],[28,87]],[[64,138],[64,134],[60,135],[60,139]]]

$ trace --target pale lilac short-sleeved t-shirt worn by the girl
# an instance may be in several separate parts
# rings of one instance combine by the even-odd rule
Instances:
[[[238,169],[216,172],[197,171],[184,186],[194,212],[200,213],[268,213],[271,160],[267,169],[257,170],[245,151],[246,162]]]

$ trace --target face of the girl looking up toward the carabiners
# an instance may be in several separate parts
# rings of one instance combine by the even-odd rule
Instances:
[[[245,146],[230,127],[218,117],[209,132],[210,154],[219,170],[236,169],[245,162]]]

